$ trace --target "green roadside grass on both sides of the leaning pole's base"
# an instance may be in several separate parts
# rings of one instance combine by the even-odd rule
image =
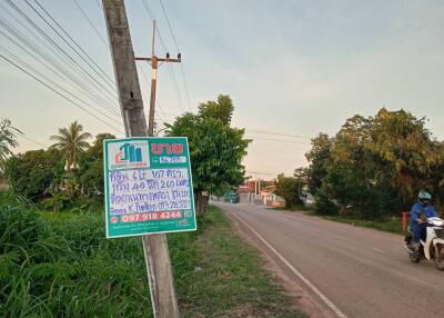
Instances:
[[[183,317],[302,317],[216,208],[169,246]],[[141,239],[105,239],[102,213],[0,207],[0,316],[152,317]]]

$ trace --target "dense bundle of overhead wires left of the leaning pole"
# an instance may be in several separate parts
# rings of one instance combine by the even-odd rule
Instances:
[[[80,3],[74,2],[81,9]],[[6,41],[0,44],[0,58],[114,132],[122,133],[112,76],[40,1],[6,0],[3,3],[0,3],[0,37]],[[84,11],[82,13],[88,17]],[[93,27],[92,21],[88,21]]]

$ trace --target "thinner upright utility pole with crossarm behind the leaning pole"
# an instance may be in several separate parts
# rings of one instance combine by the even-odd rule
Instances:
[[[163,62],[181,62],[181,53],[178,53],[176,59],[171,59],[170,53],[167,52],[167,58],[158,58],[154,50],[155,44],[155,20],[153,21],[153,34],[151,39],[151,58],[135,58],[137,61],[148,61],[151,64],[151,97],[150,97],[150,121],[149,121],[149,133],[152,136],[153,130],[150,127],[154,127],[154,107],[155,107],[155,89],[158,86],[158,68]]]

